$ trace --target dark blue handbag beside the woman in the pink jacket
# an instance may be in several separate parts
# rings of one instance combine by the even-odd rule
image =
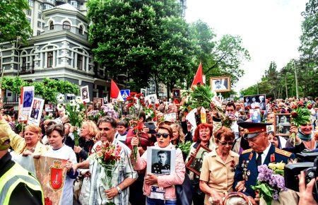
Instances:
[[[182,185],[175,185],[177,205],[192,205],[193,187],[187,172],[184,173]]]

